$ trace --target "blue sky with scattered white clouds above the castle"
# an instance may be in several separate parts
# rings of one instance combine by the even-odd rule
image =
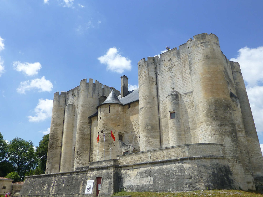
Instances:
[[[0,0],[0,132],[38,146],[53,94],[93,78],[138,85],[137,63],[213,33],[238,61],[263,148],[263,1]]]

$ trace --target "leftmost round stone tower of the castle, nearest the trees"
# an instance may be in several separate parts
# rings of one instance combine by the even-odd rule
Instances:
[[[66,92],[56,92],[53,99],[48,142],[46,174],[59,172]]]

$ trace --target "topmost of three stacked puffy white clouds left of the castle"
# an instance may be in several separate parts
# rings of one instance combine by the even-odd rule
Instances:
[[[38,71],[41,69],[41,64],[39,62],[21,63],[20,61],[14,61],[13,66],[16,71],[22,71],[24,74],[28,76],[38,74]]]

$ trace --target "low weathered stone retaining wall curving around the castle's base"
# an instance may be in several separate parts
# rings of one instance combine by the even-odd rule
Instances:
[[[102,177],[99,196],[126,191],[238,189],[221,144],[186,144],[90,162],[83,170],[28,176],[22,197],[87,196],[87,180]],[[133,159],[131,163],[130,160]]]

